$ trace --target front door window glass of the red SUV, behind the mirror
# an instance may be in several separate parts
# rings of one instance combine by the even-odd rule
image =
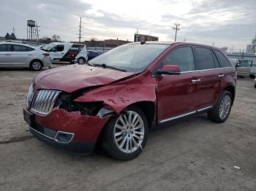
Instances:
[[[176,50],[170,52],[164,61],[164,65],[178,65],[181,71],[193,71],[195,70],[194,55],[191,47],[179,47]]]

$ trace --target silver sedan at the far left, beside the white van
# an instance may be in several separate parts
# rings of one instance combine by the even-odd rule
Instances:
[[[27,67],[39,71],[50,67],[50,54],[37,47],[15,42],[0,42],[0,67]]]

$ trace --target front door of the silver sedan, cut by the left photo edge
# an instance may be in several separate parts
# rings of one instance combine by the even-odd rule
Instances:
[[[0,66],[12,66],[12,52],[10,44],[0,44]]]

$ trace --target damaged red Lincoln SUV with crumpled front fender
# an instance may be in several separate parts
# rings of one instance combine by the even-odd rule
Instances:
[[[23,114],[42,141],[83,153],[99,144],[111,157],[131,160],[150,128],[200,112],[224,122],[235,91],[236,70],[217,47],[131,43],[38,74]]]

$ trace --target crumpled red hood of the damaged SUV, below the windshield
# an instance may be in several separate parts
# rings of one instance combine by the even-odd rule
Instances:
[[[34,89],[72,92],[83,87],[107,85],[134,73],[87,65],[69,65],[42,71],[34,78]]]

